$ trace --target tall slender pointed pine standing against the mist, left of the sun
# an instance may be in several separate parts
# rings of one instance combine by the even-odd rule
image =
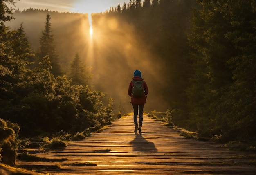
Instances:
[[[58,56],[56,54],[54,38],[51,29],[51,17],[46,15],[45,30],[42,31],[40,38],[39,58],[42,59],[45,56],[49,56],[52,63],[52,74],[54,76],[61,76],[61,66],[58,63]]]

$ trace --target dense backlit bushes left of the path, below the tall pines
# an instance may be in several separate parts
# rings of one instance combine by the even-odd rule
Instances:
[[[13,90],[6,87],[5,91],[11,93],[6,100],[2,98],[1,101],[5,103],[1,106],[2,117],[22,126],[20,132],[22,136],[59,130],[76,133],[91,126],[100,128],[110,123],[112,119],[110,115],[113,113],[110,107],[105,108],[102,105],[100,101],[102,92],[91,92],[87,86],[71,85],[71,81],[66,76],[55,78],[51,73],[52,63],[49,56],[45,56],[38,65],[32,70],[25,70],[25,66],[20,67],[20,70],[25,70],[27,73],[18,74],[21,78],[16,84],[12,83]],[[8,73],[8,69],[6,70],[4,76],[13,75],[14,79],[13,71],[10,70]],[[3,94],[6,96],[7,93],[3,92]],[[8,100],[10,98],[15,98],[15,103]],[[103,117],[104,120],[98,117],[101,114],[106,116]],[[93,119],[94,117],[99,121]],[[29,132],[31,129],[34,132]]]

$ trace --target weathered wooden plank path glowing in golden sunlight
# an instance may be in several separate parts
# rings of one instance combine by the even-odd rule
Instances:
[[[17,161],[16,165],[54,175],[256,174],[255,165],[241,158],[248,153],[225,150],[211,142],[186,139],[176,130],[146,116],[143,133],[135,134],[132,118],[128,115],[114,121],[108,129],[83,141],[72,142],[63,150],[36,153],[38,157],[56,161]],[[67,160],[60,161],[62,158]],[[74,164],[85,162],[97,166]]]

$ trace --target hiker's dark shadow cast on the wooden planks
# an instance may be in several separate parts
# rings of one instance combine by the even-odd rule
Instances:
[[[157,148],[153,142],[147,141],[141,133],[135,132],[135,138],[130,142],[133,151],[136,152],[157,152]]]

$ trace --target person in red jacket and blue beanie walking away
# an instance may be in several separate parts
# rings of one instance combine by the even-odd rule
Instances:
[[[139,88],[142,88],[139,90]],[[136,93],[135,93],[136,89]],[[141,93],[141,94],[138,94]],[[143,121],[143,108],[144,104],[146,103],[146,95],[148,94],[148,86],[146,81],[141,76],[141,72],[139,70],[135,70],[133,74],[132,81],[130,82],[129,88],[128,88],[128,95],[131,97],[130,103],[132,104],[134,115],[133,115],[133,121],[135,125],[134,132],[141,131],[142,127],[142,121]],[[138,110],[139,110],[139,127],[138,127]]]

